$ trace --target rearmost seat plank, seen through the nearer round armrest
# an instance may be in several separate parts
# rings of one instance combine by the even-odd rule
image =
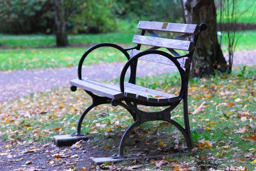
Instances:
[[[164,93],[164,92],[161,92],[161,91],[153,90],[153,89],[146,88],[146,87],[143,87],[143,86],[140,86],[140,85],[134,85],[134,84],[127,83],[127,82],[124,82],[124,85],[126,87],[132,87],[134,89],[139,89],[139,90],[142,90],[142,91],[147,91],[147,92],[149,92],[151,94],[163,96],[165,98],[168,98],[168,102],[176,102],[176,101],[179,100],[179,97],[174,95],[174,94]]]

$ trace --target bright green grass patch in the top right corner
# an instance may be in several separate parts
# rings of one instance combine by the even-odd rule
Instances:
[[[237,22],[256,23],[256,11],[254,11],[256,9],[255,0],[237,0],[237,9],[238,9],[238,13],[242,14],[241,17],[239,17]],[[220,21],[219,16],[220,16],[220,10],[218,9],[217,10],[218,22]],[[227,21],[227,18],[224,16],[222,18],[222,22],[226,22],[226,21]]]

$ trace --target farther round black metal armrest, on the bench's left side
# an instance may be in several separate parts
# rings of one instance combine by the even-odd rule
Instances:
[[[87,57],[87,55],[89,53],[91,53],[93,50],[99,48],[99,47],[114,47],[118,50],[120,50],[127,58],[127,60],[130,59],[130,55],[127,53],[127,50],[130,50],[130,49],[133,49],[135,47],[132,47],[132,48],[128,48],[128,49],[123,49],[121,46],[119,45],[116,45],[116,44],[113,44],[113,43],[100,43],[100,44],[95,44],[93,45],[92,47],[90,47],[84,54],[83,56],[81,57],[80,61],[79,61],[79,64],[78,64],[78,78],[81,80],[82,79],[82,66],[83,66],[83,63],[84,63],[84,60],[85,58]]]

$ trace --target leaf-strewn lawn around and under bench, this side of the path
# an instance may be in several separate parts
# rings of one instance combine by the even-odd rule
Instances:
[[[255,67],[255,66],[254,66]],[[208,170],[239,167],[252,171],[256,165],[256,72],[254,67],[235,68],[232,75],[217,75],[200,80],[191,79],[188,89],[189,120],[196,147],[189,155],[166,157],[159,161],[124,162],[103,167],[140,165],[140,169],[164,171],[178,169]],[[180,83],[176,74],[139,78],[138,84],[176,92]],[[164,81],[165,80],[165,81]],[[72,93],[69,87],[35,93],[8,104],[0,104],[0,132],[5,148],[29,143],[45,143],[56,134],[72,133],[80,113],[88,106],[90,97],[81,90]],[[203,102],[203,112],[192,114]],[[156,108],[147,108],[156,110]],[[182,105],[171,113],[172,119],[183,123]],[[132,123],[132,118],[121,107],[96,107],[85,119],[82,132],[95,135],[90,143],[111,154],[116,152],[121,133]],[[100,135],[99,135],[100,134]],[[136,136],[136,134],[138,134]],[[247,137],[251,141],[246,140]],[[133,134],[127,151],[166,151],[170,147],[182,150],[184,139],[174,127],[158,122],[143,124]],[[151,138],[155,139],[151,139]],[[169,137],[166,139],[166,137]],[[137,141],[138,140],[138,141]],[[129,142],[129,141],[128,141]],[[137,147],[137,149],[135,148]],[[150,148],[149,148],[150,147]],[[153,147],[153,148],[152,148]],[[150,149],[150,150],[148,150]],[[174,150],[174,149],[172,149]],[[139,162],[139,163],[138,163]],[[225,170],[226,171],[226,170]]]

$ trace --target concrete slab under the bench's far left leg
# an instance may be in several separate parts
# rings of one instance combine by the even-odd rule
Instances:
[[[58,147],[61,146],[72,146],[76,142],[80,140],[88,140],[90,135],[79,135],[79,136],[71,136],[71,135],[56,135],[53,137],[54,144]]]

